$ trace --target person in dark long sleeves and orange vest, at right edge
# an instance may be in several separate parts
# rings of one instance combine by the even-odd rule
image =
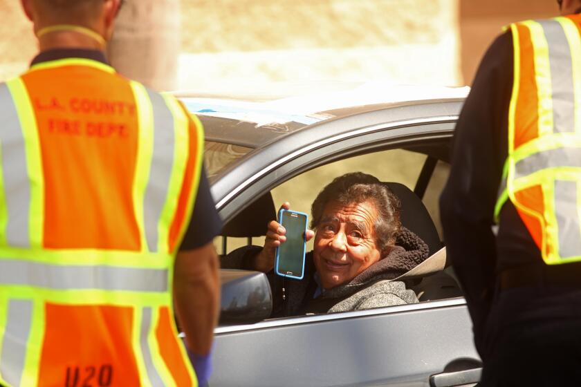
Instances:
[[[440,199],[481,386],[581,381],[581,1],[490,46]]]

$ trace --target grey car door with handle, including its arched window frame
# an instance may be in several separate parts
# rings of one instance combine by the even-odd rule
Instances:
[[[459,106],[444,106],[441,114],[434,106],[415,110],[414,117],[403,112],[402,119],[381,123],[377,117],[372,124],[362,117],[330,122],[340,128],[309,139],[311,147],[300,143],[307,132],[297,133],[295,149],[284,141],[273,144],[264,163],[239,165],[212,188],[221,215],[228,220],[281,182],[351,155],[382,149],[445,153]],[[239,184],[228,187],[228,181]],[[462,298],[219,327],[210,385],[427,386],[431,375],[450,371],[432,378],[432,384],[457,386],[478,377],[457,377],[464,368],[477,367],[471,327]]]

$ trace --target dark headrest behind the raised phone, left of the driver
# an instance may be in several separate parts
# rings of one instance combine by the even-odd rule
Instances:
[[[243,209],[237,216],[222,229],[222,236],[233,236],[244,238],[248,236],[266,235],[266,226],[270,220],[277,218],[275,202],[270,191],[264,193],[248,207]]]

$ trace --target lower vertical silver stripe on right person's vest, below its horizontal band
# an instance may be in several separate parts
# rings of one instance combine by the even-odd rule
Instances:
[[[581,229],[577,211],[577,182],[555,180],[555,215],[559,233],[559,256],[581,256]]]

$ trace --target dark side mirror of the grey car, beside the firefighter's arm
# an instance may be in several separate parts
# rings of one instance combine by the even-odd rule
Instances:
[[[273,294],[266,275],[248,270],[220,270],[219,325],[257,323],[270,317]]]

